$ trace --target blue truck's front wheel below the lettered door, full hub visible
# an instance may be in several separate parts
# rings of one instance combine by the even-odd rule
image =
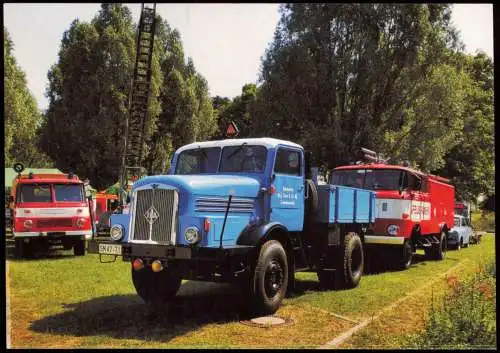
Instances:
[[[251,300],[255,314],[278,310],[288,285],[288,262],[279,241],[269,240],[260,248],[252,282]]]

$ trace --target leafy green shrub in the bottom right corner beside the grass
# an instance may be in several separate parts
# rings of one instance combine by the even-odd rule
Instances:
[[[429,321],[415,339],[425,348],[496,347],[496,265],[482,266],[469,280],[449,279],[452,292],[431,309]]]

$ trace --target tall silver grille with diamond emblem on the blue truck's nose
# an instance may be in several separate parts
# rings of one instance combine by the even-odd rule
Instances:
[[[138,190],[131,240],[175,244],[179,196],[172,189]]]

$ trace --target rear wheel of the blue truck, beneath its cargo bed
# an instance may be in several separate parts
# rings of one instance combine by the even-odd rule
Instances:
[[[339,274],[339,285],[341,288],[354,288],[361,280],[364,266],[363,244],[357,233],[346,234],[341,255],[342,264],[336,271]]]

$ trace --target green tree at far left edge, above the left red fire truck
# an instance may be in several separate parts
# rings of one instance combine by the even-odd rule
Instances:
[[[4,129],[5,165],[51,168],[52,161],[38,151],[41,114],[28,89],[26,75],[14,57],[14,44],[4,27]]]

